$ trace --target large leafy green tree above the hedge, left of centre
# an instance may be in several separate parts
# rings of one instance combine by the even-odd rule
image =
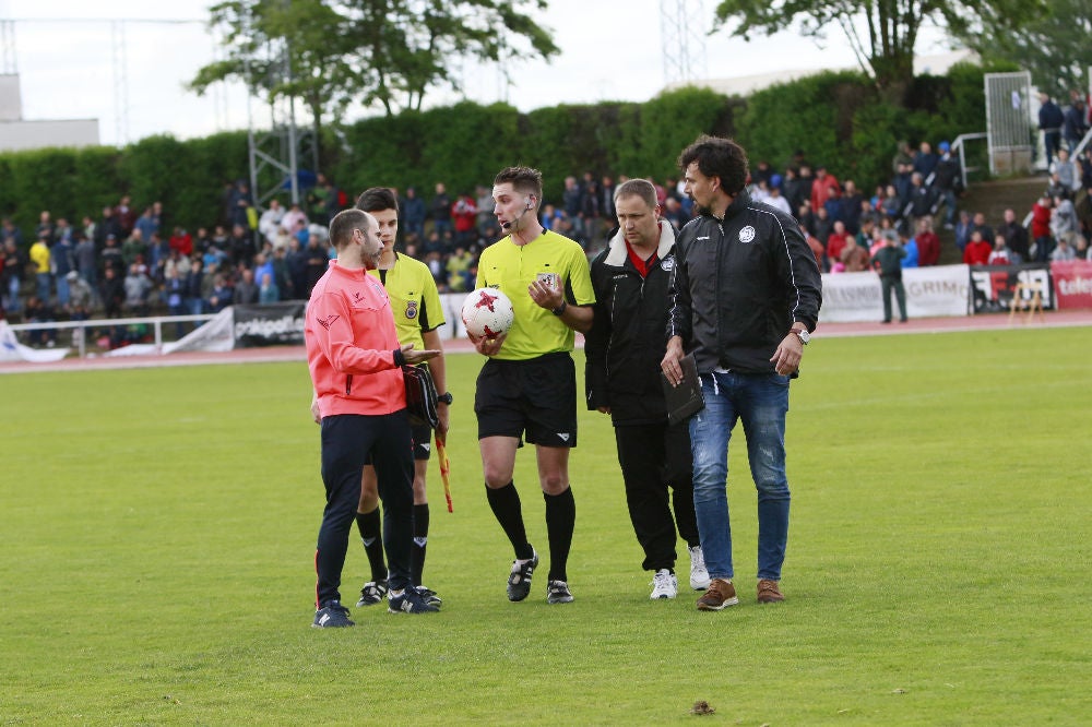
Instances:
[[[203,92],[242,79],[270,100],[301,99],[316,120],[336,118],[352,104],[388,116],[420,109],[426,94],[459,90],[463,59],[507,68],[523,57],[559,49],[526,10],[546,0],[227,0],[210,24],[224,37],[226,58],[199,70]]]

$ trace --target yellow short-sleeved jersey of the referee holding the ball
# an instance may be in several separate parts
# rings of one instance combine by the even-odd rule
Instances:
[[[572,329],[539,308],[527,294],[527,287],[546,275],[554,276],[555,285],[561,285],[569,305],[595,302],[587,255],[563,235],[547,230],[524,246],[506,237],[482,251],[475,287],[499,289],[512,300],[515,310],[512,327],[495,358],[518,361],[572,350]]]

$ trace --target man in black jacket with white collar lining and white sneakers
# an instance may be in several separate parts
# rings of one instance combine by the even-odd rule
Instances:
[[[674,598],[676,524],[690,551],[690,586],[709,585],[693,514],[690,436],[686,424],[668,425],[660,376],[675,228],[661,218],[648,180],[620,184],[614,206],[618,230],[592,261],[595,319],[584,338],[584,391],[587,408],[609,414],[615,427],[642,568],[653,572],[651,598]]]

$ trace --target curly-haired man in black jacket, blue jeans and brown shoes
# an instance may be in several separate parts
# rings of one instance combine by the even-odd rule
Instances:
[[[684,354],[692,354],[705,402],[690,419],[693,503],[711,579],[698,609],[739,603],[726,496],[737,420],[758,489],[758,600],[775,603],[784,600],[779,582],[788,539],[788,382],[819,319],[819,266],[793,217],[750,199],[741,146],[699,136],[679,168],[700,214],[676,243],[661,369],[678,385]]]

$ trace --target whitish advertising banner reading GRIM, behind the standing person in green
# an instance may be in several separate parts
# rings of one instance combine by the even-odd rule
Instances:
[[[969,315],[971,312],[966,265],[910,267],[902,272],[902,285],[906,289],[906,314],[910,318]],[[895,307],[894,300],[891,305]],[[882,319],[879,275],[869,271],[822,276],[820,322],[855,323]]]

